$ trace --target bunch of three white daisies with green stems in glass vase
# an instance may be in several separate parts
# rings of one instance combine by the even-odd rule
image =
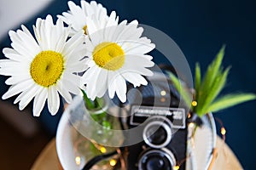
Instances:
[[[109,129],[118,124],[113,116],[108,118],[108,100],[116,96],[125,103],[126,82],[135,88],[147,85],[145,77],[153,75],[148,67],[154,66],[148,52],[155,46],[142,36],[137,20],[119,22],[116,12],[108,15],[102,4],[69,1],[68,7],[56,22],[51,15],[38,18],[33,34],[23,25],[9,31],[11,48],[3,48],[7,59],[0,60],[0,74],[9,77],[5,83],[10,88],[2,98],[17,95],[14,104],[19,103],[20,111],[33,100],[33,116],[40,116],[47,103],[54,116],[61,99],[71,104],[73,96],[83,96],[83,116],[73,113],[69,118],[75,126],[76,118],[86,122],[86,114],[90,115],[99,128],[90,130],[94,126],[90,123],[84,127],[94,139],[89,150],[105,153],[108,148],[101,144],[109,142]]]

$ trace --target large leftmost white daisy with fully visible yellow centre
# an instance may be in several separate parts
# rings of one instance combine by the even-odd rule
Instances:
[[[38,19],[33,26],[36,39],[26,26],[22,30],[9,31],[12,48],[3,48],[8,59],[0,60],[0,74],[10,76],[6,84],[11,85],[3,94],[8,99],[16,94],[15,104],[20,110],[34,98],[33,115],[39,116],[47,99],[52,115],[60,107],[59,94],[68,103],[72,94],[80,94],[81,77],[74,72],[85,71],[83,31],[67,40],[70,28],[61,20],[53,24],[52,17]]]

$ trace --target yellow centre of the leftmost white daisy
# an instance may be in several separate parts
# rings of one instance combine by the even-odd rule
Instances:
[[[60,53],[42,51],[30,65],[32,79],[45,88],[54,85],[64,71],[64,60]]]

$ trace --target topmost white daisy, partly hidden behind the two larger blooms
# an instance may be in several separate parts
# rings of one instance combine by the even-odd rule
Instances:
[[[96,21],[95,25],[98,29],[102,29],[107,25],[116,26],[118,24],[118,17],[115,12],[112,12],[108,17],[107,9],[102,7],[102,4],[95,1],[87,3],[84,0],[81,0],[80,3],[81,6],[69,1],[67,3],[69,11],[62,13],[62,15],[57,15],[58,18],[72,27],[73,32],[83,30],[85,35],[92,33],[87,31],[88,24],[92,18],[96,19],[94,21]],[[101,22],[98,22],[98,20],[101,20]]]

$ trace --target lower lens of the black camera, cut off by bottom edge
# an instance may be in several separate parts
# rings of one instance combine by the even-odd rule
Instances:
[[[138,162],[139,170],[171,170],[176,165],[175,157],[171,150],[148,150]]]

